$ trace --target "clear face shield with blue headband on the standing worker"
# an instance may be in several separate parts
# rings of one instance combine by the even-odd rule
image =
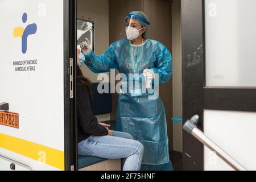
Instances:
[[[149,25],[150,23],[146,19],[128,14],[121,34],[125,34],[128,40],[137,39],[141,35],[143,39],[147,39],[146,34]]]

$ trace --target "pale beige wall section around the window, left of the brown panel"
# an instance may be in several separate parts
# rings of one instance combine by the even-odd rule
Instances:
[[[78,0],[77,18],[93,21],[95,24],[94,51],[101,55],[109,47],[109,2],[108,0]],[[92,82],[97,80],[98,74],[90,71],[85,65],[82,66],[82,73]],[[109,121],[110,113],[96,115],[98,121]]]

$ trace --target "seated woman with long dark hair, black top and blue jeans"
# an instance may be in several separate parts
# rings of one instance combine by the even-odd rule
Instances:
[[[105,159],[122,159],[123,171],[139,171],[143,145],[130,134],[109,130],[92,113],[90,81],[77,66],[78,154]]]

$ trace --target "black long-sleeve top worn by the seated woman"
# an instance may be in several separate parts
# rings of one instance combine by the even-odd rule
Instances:
[[[91,135],[101,137],[108,135],[108,130],[98,124],[97,118],[92,112],[92,99],[87,90],[77,86],[77,140],[82,142]]]

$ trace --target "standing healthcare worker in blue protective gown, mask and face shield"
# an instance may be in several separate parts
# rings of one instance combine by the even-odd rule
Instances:
[[[150,26],[147,16],[141,11],[133,11],[126,16],[125,26],[127,39],[111,44],[103,55],[93,53],[88,39],[81,43],[84,59],[80,63],[86,64],[94,73],[118,69],[129,82],[136,80],[130,74],[138,73],[152,84],[155,84],[157,77],[159,85],[167,83],[172,75],[171,53],[162,43],[147,38]],[[131,88],[134,89],[133,86]],[[142,171],[171,171],[163,102],[160,97],[152,100],[148,97],[152,93],[141,91],[134,89],[119,94],[118,130],[133,135],[143,144]]]

